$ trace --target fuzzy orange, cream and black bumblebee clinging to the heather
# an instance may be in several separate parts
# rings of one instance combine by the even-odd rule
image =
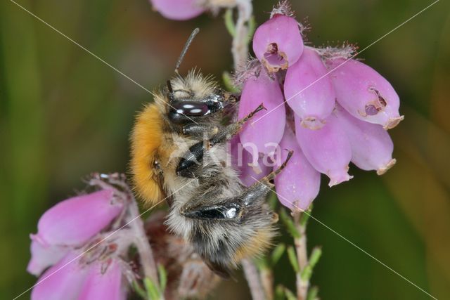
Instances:
[[[278,218],[265,197],[288,159],[254,185],[240,183],[238,171],[227,163],[226,142],[264,106],[237,122],[222,123],[236,96],[222,91],[212,77],[195,70],[181,77],[177,71],[195,33],[175,77],[136,117],[131,174],[146,206],[169,195],[169,229],[190,242],[211,270],[228,278],[241,259],[270,246]]]

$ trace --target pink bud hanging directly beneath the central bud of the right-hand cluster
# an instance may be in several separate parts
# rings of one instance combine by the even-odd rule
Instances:
[[[353,177],[347,173],[352,148],[335,115],[331,114],[325,126],[318,130],[304,128],[295,116],[295,134],[314,169],[330,178],[330,187]]]

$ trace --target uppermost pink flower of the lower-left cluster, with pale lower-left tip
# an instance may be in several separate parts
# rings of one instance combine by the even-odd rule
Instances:
[[[46,211],[32,239],[32,258],[27,270],[39,275],[56,263],[70,247],[79,247],[108,226],[123,208],[114,190],[72,197]]]

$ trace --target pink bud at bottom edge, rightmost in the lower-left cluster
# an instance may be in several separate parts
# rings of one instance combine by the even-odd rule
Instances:
[[[97,299],[127,299],[127,286],[124,285],[117,259],[96,261],[90,266],[78,300]]]

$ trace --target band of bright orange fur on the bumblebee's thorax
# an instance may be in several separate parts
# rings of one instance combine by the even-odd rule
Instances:
[[[131,172],[134,188],[146,204],[157,204],[164,195],[155,169],[162,145],[163,121],[158,105],[152,103],[136,118],[131,133]]]

